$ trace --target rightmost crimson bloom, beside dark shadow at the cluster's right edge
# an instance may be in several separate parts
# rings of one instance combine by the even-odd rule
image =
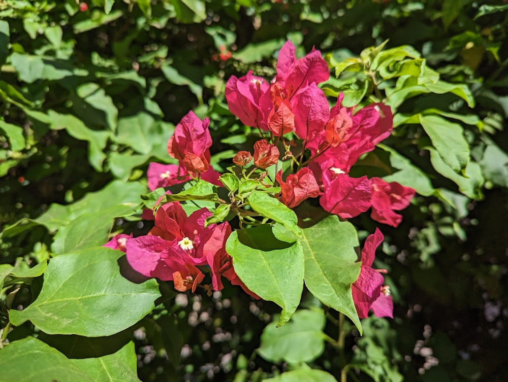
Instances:
[[[394,210],[405,209],[416,191],[397,182],[387,183],[381,178],[371,178],[370,184],[372,185],[370,217],[379,223],[397,227],[402,221],[402,215],[395,213]]]

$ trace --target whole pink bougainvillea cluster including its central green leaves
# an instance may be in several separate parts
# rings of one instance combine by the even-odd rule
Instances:
[[[279,325],[295,312],[303,285],[323,304],[349,317],[369,310],[393,317],[385,270],[371,268],[379,229],[361,256],[347,219],[371,210],[373,220],[397,227],[415,190],[380,178],[351,177],[351,167],[388,137],[390,107],[330,103],[318,85],[329,78],[321,53],[297,59],[285,43],[268,82],[248,72],[226,84],[230,111],[255,136],[228,172],[210,166],[208,118],[192,111],[176,126],[168,153],[179,165],[151,163],[144,216],[147,235],[117,235],[108,247],[126,253],[148,277],[173,281],[177,291],[224,288],[223,277],[255,298],[282,308]],[[183,185],[173,193],[170,186]],[[150,203],[151,201],[151,203]],[[209,274],[210,277],[207,275]]]

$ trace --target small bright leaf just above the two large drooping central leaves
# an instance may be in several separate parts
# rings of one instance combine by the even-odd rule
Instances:
[[[278,199],[265,192],[254,191],[247,197],[247,201],[252,210],[258,214],[282,224],[295,235],[301,237],[302,233],[300,227],[298,227],[298,218],[295,212],[282,204]]]

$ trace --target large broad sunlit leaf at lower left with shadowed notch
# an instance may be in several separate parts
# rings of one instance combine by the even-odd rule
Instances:
[[[86,249],[50,260],[37,299],[24,310],[11,309],[19,326],[30,320],[48,334],[107,336],[134,325],[160,296],[154,279],[135,284],[118,266],[120,251]]]

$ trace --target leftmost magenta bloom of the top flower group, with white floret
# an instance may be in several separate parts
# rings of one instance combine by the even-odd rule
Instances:
[[[246,76],[231,78],[226,83],[226,99],[231,113],[240,118],[244,125],[261,127],[263,125],[263,112],[260,106],[260,97],[268,90],[268,82],[264,78],[252,75],[249,71]]]

